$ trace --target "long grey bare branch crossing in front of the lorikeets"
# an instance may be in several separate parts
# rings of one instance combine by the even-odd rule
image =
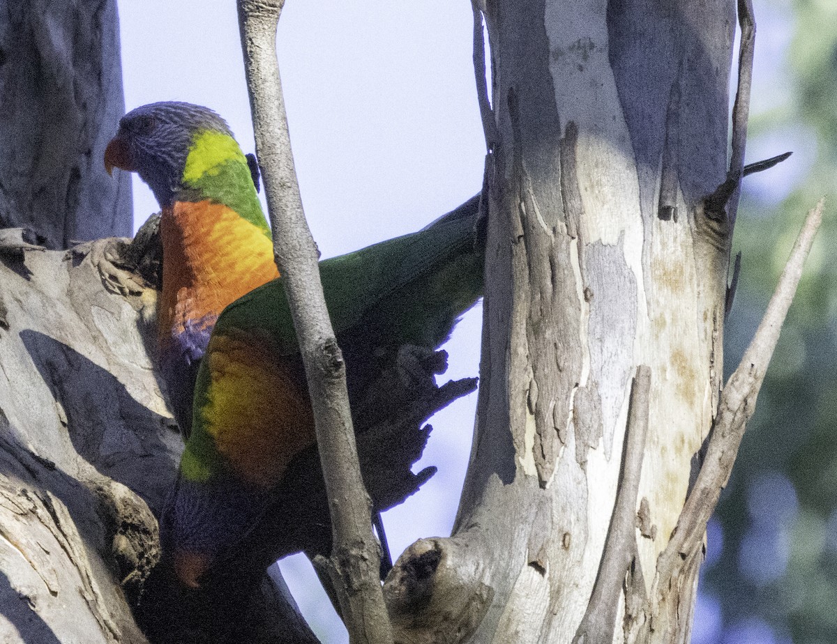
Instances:
[[[363,487],[346,386],[346,365],[323,297],[318,252],[302,208],[276,59],[276,28],[284,0],[239,0],[239,26],[256,154],[306,366],[317,446],[331,510],[332,578],[352,642],[392,642],[378,580],[380,551]],[[347,590],[351,586],[351,592]]]

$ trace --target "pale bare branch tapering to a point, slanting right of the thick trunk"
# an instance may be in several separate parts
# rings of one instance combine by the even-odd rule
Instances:
[[[732,472],[747,421],[755,411],[758,391],[776,348],[788,307],[796,293],[805,258],[808,257],[822,222],[822,215],[823,200],[820,200],[808,213],[756,335],[721,393],[718,415],[712,427],[701,472],[686,499],[674,534],[657,561],[655,583],[658,585],[666,585],[676,574],[683,558],[701,544],[706,522],[715,510],[721,489],[727,484]]]

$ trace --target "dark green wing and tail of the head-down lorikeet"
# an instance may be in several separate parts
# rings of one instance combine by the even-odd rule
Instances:
[[[320,276],[335,333],[374,319],[393,342],[437,346],[481,296],[483,261],[470,219],[326,259]],[[299,351],[281,278],[230,304],[215,328],[259,330],[280,355]]]

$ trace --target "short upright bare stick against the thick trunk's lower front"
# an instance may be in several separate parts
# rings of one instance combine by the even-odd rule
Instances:
[[[648,434],[650,391],[651,369],[648,365],[639,365],[630,390],[622,472],[619,474],[614,514],[604,542],[602,563],[593,585],[593,594],[573,637],[573,644],[612,641],[614,638],[619,593],[622,592],[625,574],[637,550],[636,505],[645,437]]]

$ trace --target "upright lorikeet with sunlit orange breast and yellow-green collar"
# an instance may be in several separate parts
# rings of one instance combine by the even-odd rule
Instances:
[[[158,358],[188,436],[195,377],[215,320],[279,276],[270,227],[239,144],[205,107],[165,102],[132,110],[105,150],[105,167],[136,171],[162,210]]]

